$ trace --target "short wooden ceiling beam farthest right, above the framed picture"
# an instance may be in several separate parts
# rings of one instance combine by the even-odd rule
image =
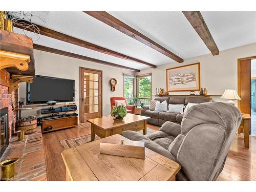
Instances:
[[[204,41],[204,44],[210,50],[212,55],[219,55],[219,49],[211,36],[207,25],[204,22],[203,16],[200,11],[182,11],[182,13],[187,18],[191,26],[196,30],[198,35]]]

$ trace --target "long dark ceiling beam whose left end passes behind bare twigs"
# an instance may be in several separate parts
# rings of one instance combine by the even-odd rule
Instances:
[[[26,20],[18,20],[17,23],[19,23],[19,24],[20,23],[31,24],[30,22],[27,22]],[[13,26],[17,27],[17,28],[20,28],[20,29],[25,29],[27,31],[33,32],[30,28],[25,28],[22,25],[17,25],[17,24],[14,23]],[[148,62],[145,62],[145,61],[142,61],[142,60],[139,60],[139,59],[127,56],[127,55],[123,55],[121,53],[118,53],[118,52],[115,52],[115,51],[97,46],[97,45],[92,44],[90,42],[87,42],[87,41],[84,41],[84,40],[81,40],[81,39],[78,39],[78,38],[75,38],[75,37],[72,37],[72,36],[54,31],[54,30],[51,30],[51,29],[48,29],[46,27],[42,27],[42,26],[39,26],[39,25],[36,25],[36,26],[39,28],[41,35],[45,35],[45,36],[48,36],[48,37],[51,37],[51,38],[55,38],[55,39],[58,39],[58,40],[69,42],[70,44],[73,44],[73,45],[77,45],[77,46],[80,46],[80,47],[84,47],[84,48],[87,48],[87,49],[98,51],[100,53],[108,54],[108,55],[118,57],[118,58],[121,58],[121,59],[129,60],[129,61],[132,61],[132,62],[138,62],[138,63],[141,63],[143,65],[149,66],[151,68],[156,68],[156,66],[151,64],[151,63],[148,63]]]

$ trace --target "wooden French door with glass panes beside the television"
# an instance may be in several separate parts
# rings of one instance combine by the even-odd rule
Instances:
[[[102,117],[102,71],[80,67],[80,122]]]

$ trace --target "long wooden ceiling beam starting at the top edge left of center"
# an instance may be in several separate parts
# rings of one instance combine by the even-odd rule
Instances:
[[[116,30],[142,42],[142,44],[166,55],[169,58],[172,58],[173,60],[175,60],[177,62],[183,62],[182,58],[180,58],[179,56],[170,52],[169,50],[165,49],[164,47],[160,46],[152,39],[146,37],[145,35],[141,34],[140,32],[138,32],[135,29],[131,28],[130,26],[126,25],[125,23],[121,22],[121,20],[117,19],[116,17],[112,16],[111,14],[109,14],[105,11],[83,11],[83,12],[100,20],[101,22],[105,23],[106,25],[109,25],[109,26],[115,28]]]

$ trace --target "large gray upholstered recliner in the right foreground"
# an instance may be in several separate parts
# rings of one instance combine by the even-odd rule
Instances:
[[[146,135],[124,131],[123,136],[144,141],[145,147],[179,163],[178,181],[215,181],[224,167],[241,119],[236,106],[223,102],[201,103],[187,110],[181,124],[167,121],[159,131]]]

